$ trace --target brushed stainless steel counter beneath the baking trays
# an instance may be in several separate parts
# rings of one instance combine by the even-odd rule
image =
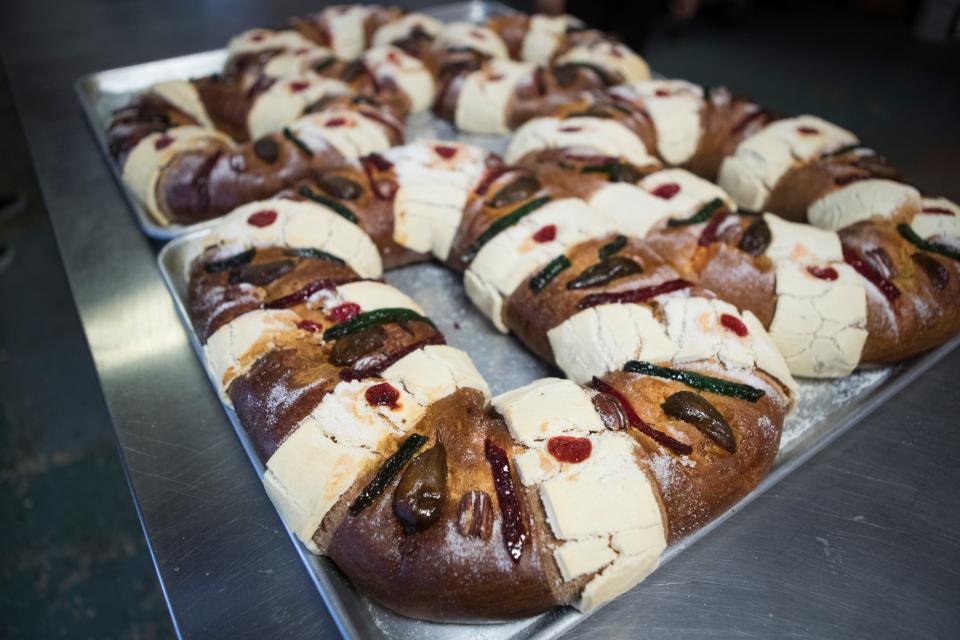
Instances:
[[[156,248],[127,211],[72,83],[215,48],[316,6],[33,0],[0,8],[0,51],[144,531],[186,637],[337,630],[191,351]],[[958,379],[954,354],[571,637],[956,636]]]

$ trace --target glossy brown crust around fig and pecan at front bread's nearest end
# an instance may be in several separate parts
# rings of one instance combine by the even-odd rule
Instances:
[[[425,531],[404,533],[392,508],[394,479],[373,505],[357,516],[347,515],[334,530],[327,553],[340,570],[376,600],[413,618],[495,621],[530,616],[557,604],[546,570],[553,560],[539,536],[528,535],[517,563],[503,543],[497,492],[484,457],[484,441],[490,439],[512,458],[516,445],[503,420],[486,411],[479,392],[462,389],[431,405],[415,430],[430,438],[421,451],[437,441],[446,449],[447,488],[440,519]],[[511,474],[519,490],[520,480]],[[487,537],[459,531],[460,502],[471,491],[483,492],[490,500]],[[523,520],[532,533],[524,495],[519,492]]]

